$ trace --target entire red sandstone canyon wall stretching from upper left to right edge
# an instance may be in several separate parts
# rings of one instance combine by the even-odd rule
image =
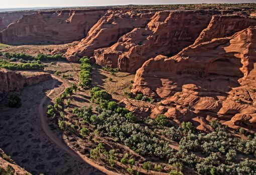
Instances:
[[[165,99],[167,106],[175,103],[194,107],[189,117],[176,116],[180,110],[175,107],[164,111],[167,116],[181,118],[179,123],[194,116],[206,118],[207,111],[212,112],[210,118],[225,118],[226,122],[233,121],[229,125],[237,125],[232,118],[241,117],[238,108],[248,108],[248,113],[243,110],[245,114],[254,112],[253,98],[245,100],[233,94],[243,96],[245,92],[234,89],[245,88],[246,79],[253,76],[254,40],[250,34],[254,31],[250,26],[256,25],[253,14],[218,9],[47,10],[23,13],[14,22],[14,18],[10,19],[12,23],[0,36],[1,42],[7,44],[71,43],[53,52],[63,52],[68,61],[77,62],[88,56],[101,66],[130,73],[137,71],[133,93]],[[251,93],[246,92],[253,96]],[[240,104],[237,100],[250,102]],[[221,112],[227,104],[238,112],[235,116]],[[243,125],[251,127],[249,120],[242,120]]]

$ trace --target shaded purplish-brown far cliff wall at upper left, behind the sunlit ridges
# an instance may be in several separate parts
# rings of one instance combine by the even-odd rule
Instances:
[[[105,9],[62,10],[25,15],[2,31],[0,41],[7,44],[72,42],[84,38],[105,12]]]

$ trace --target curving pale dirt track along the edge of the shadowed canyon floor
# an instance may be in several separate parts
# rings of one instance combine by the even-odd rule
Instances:
[[[97,168],[98,170],[106,173],[106,174],[109,174],[109,175],[119,175],[119,173],[115,173],[115,172],[112,172],[110,170],[107,170],[105,167],[103,166],[100,166],[96,163],[94,163],[93,161],[91,161],[89,158],[85,157],[84,155],[80,154],[79,152],[77,151],[74,151],[73,149],[71,149],[69,146],[67,146],[63,141],[61,141],[57,135],[55,133],[52,132],[52,130],[50,129],[50,127],[48,126],[48,123],[46,121],[46,108],[44,108],[44,106],[47,106],[47,104],[50,103],[50,100],[49,100],[49,95],[51,95],[53,92],[54,92],[54,87],[56,85],[56,83],[58,81],[62,82],[64,87],[67,88],[69,87],[70,85],[63,81],[61,78],[55,76],[55,75],[52,75],[52,77],[54,78],[54,81],[53,81],[53,84],[52,84],[52,89],[50,90],[50,92],[41,100],[40,104],[39,104],[39,109],[38,109],[38,114],[40,116],[40,120],[41,120],[41,125],[42,125],[42,128],[44,130],[44,132],[46,133],[46,135],[52,140],[52,142],[54,142],[56,145],[58,145],[60,148],[62,148],[63,150],[65,150],[69,155],[73,156],[74,158],[76,158],[77,160],[83,160],[85,163],[87,164],[90,164],[91,166]],[[64,88],[64,90],[65,90]],[[63,91],[64,91],[63,90]],[[62,92],[63,92],[62,91]],[[62,93],[61,92],[61,93]],[[54,98],[56,98],[57,96],[59,96],[61,93],[59,93],[58,95],[56,95]],[[45,105],[44,105],[45,104]]]

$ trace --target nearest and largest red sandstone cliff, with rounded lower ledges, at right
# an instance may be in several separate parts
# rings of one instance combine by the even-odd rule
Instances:
[[[228,29],[224,30],[223,35],[228,35]],[[231,127],[253,130],[256,27],[210,39],[190,45],[175,56],[159,55],[146,61],[136,73],[132,91],[162,97],[167,106],[175,103],[189,107],[204,119],[217,117],[232,121],[228,123]],[[169,111],[169,115],[177,117],[176,112]]]

